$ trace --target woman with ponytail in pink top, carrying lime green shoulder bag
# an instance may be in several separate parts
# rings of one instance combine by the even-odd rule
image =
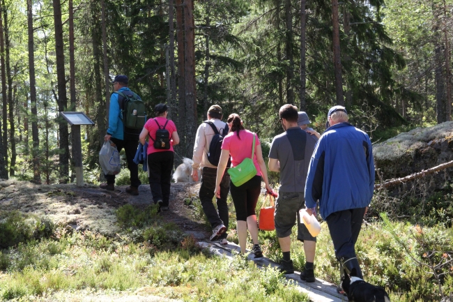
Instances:
[[[231,197],[233,198],[234,208],[236,209],[236,228],[238,232],[240,253],[245,254],[247,244],[247,228],[252,236],[254,259],[261,259],[263,252],[258,241],[258,224],[256,223],[256,202],[261,192],[261,178],[266,183],[266,190],[272,189],[269,186],[268,173],[261,152],[261,144],[255,133],[245,130],[243,121],[238,114],[231,114],[227,119],[230,128],[229,133],[224,137],[222,143],[222,153],[220,162],[217,166],[217,179],[215,184],[215,195],[220,197],[220,182],[227,167],[228,158],[231,156],[231,167],[236,167],[245,158],[249,158],[252,153],[253,137],[255,136],[255,150],[253,162],[256,167],[256,175],[241,186],[234,186],[230,183]]]

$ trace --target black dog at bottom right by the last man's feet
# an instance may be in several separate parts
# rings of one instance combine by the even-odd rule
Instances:
[[[351,275],[344,272],[341,278],[341,287],[348,295],[350,302],[390,302],[385,289],[374,286],[357,277],[357,271],[352,269]]]

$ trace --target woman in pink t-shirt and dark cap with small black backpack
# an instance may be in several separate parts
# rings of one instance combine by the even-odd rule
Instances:
[[[167,119],[168,107],[165,104],[158,104],[154,107],[155,118],[146,121],[140,133],[140,142],[145,144],[148,139],[148,180],[153,194],[154,204],[159,204],[159,209],[167,211],[169,209],[171,172],[173,171],[174,150],[173,146],[179,144],[179,136],[173,121]],[[167,149],[156,149],[154,140],[157,139],[156,132],[159,129],[166,129],[169,132],[169,145]]]

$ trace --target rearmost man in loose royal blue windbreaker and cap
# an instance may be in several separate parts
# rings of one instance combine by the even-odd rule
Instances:
[[[310,160],[305,206],[311,215],[319,200],[341,275],[356,269],[362,278],[355,242],[374,192],[371,141],[367,133],[348,123],[348,113],[342,106],[330,108],[326,128]],[[342,292],[341,287],[338,291]]]

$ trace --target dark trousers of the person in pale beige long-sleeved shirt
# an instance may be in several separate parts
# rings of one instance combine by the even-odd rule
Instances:
[[[217,199],[217,210],[213,204],[215,179],[217,177],[217,169],[204,167],[201,175],[201,187],[199,192],[201,206],[208,221],[213,227],[224,225],[228,229],[229,214],[227,196],[230,189],[230,176],[227,171],[224,172],[222,181],[220,182],[220,198]],[[218,211],[218,213],[217,213]],[[220,239],[227,238],[227,232],[220,236]]]

